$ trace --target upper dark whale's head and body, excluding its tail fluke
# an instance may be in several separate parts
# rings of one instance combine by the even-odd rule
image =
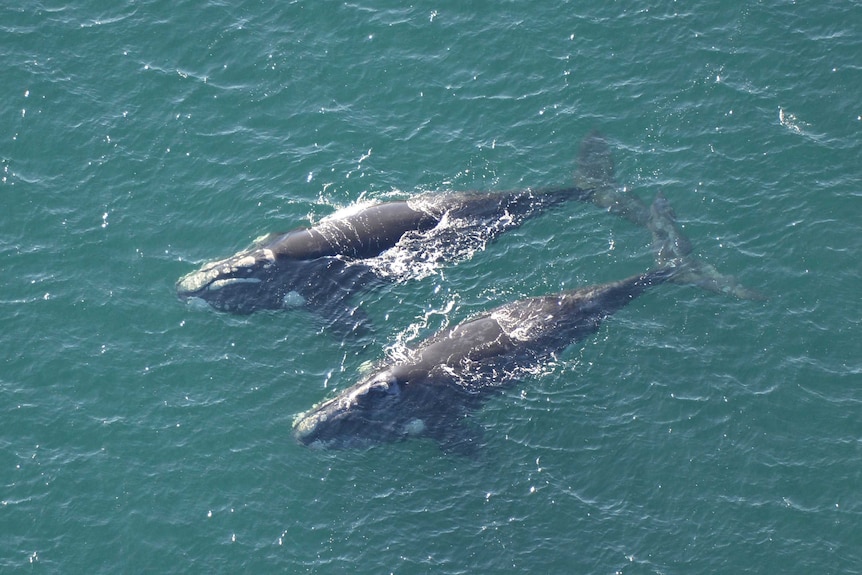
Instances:
[[[349,298],[381,277],[371,260],[407,238],[424,234],[427,240],[438,232],[439,242],[458,244],[477,237],[486,242],[547,208],[585,201],[591,193],[570,186],[426,193],[362,204],[317,225],[269,234],[249,249],[205,263],[179,279],[177,295],[237,314],[306,307],[331,322],[355,320],[355,325],[364,318]],[[420,257],[418,250],[411,253]]]

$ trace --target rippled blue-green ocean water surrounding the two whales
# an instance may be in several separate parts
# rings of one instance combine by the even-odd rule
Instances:
[[[862,573],[862,3],[0,6],[0,572]],[[593,129],[695,252],[475,413],[297,444],[400,342],[653,264],[595,206],[354,298],[181,302],[366,200],[568,185]]]

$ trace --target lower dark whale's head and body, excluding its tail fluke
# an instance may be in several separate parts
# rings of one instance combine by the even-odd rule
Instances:
[[[293,436],[319,449],[429,437],[473,453],[472,411],[568,346],[650,286],[682,270],[666,265],[627,279],[506,303],[444,329],[297,416]]]

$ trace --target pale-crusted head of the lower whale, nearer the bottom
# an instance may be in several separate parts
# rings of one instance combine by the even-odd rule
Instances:
[[[299,415],[293,436],[313,448],[361,447],[425,432],[410,388],[381,370]]]

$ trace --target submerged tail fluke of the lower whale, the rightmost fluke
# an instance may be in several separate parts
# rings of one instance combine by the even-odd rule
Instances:
[[[719,272],[715,266],[692,254],[691,242],[682,233],[670,202],[661,192],[650,207],[646,226],[652,234],[656,264],[659,270],[668,270],[667,280],[739,299],[766,299],[763,294],[742,285],[734,276]]]

